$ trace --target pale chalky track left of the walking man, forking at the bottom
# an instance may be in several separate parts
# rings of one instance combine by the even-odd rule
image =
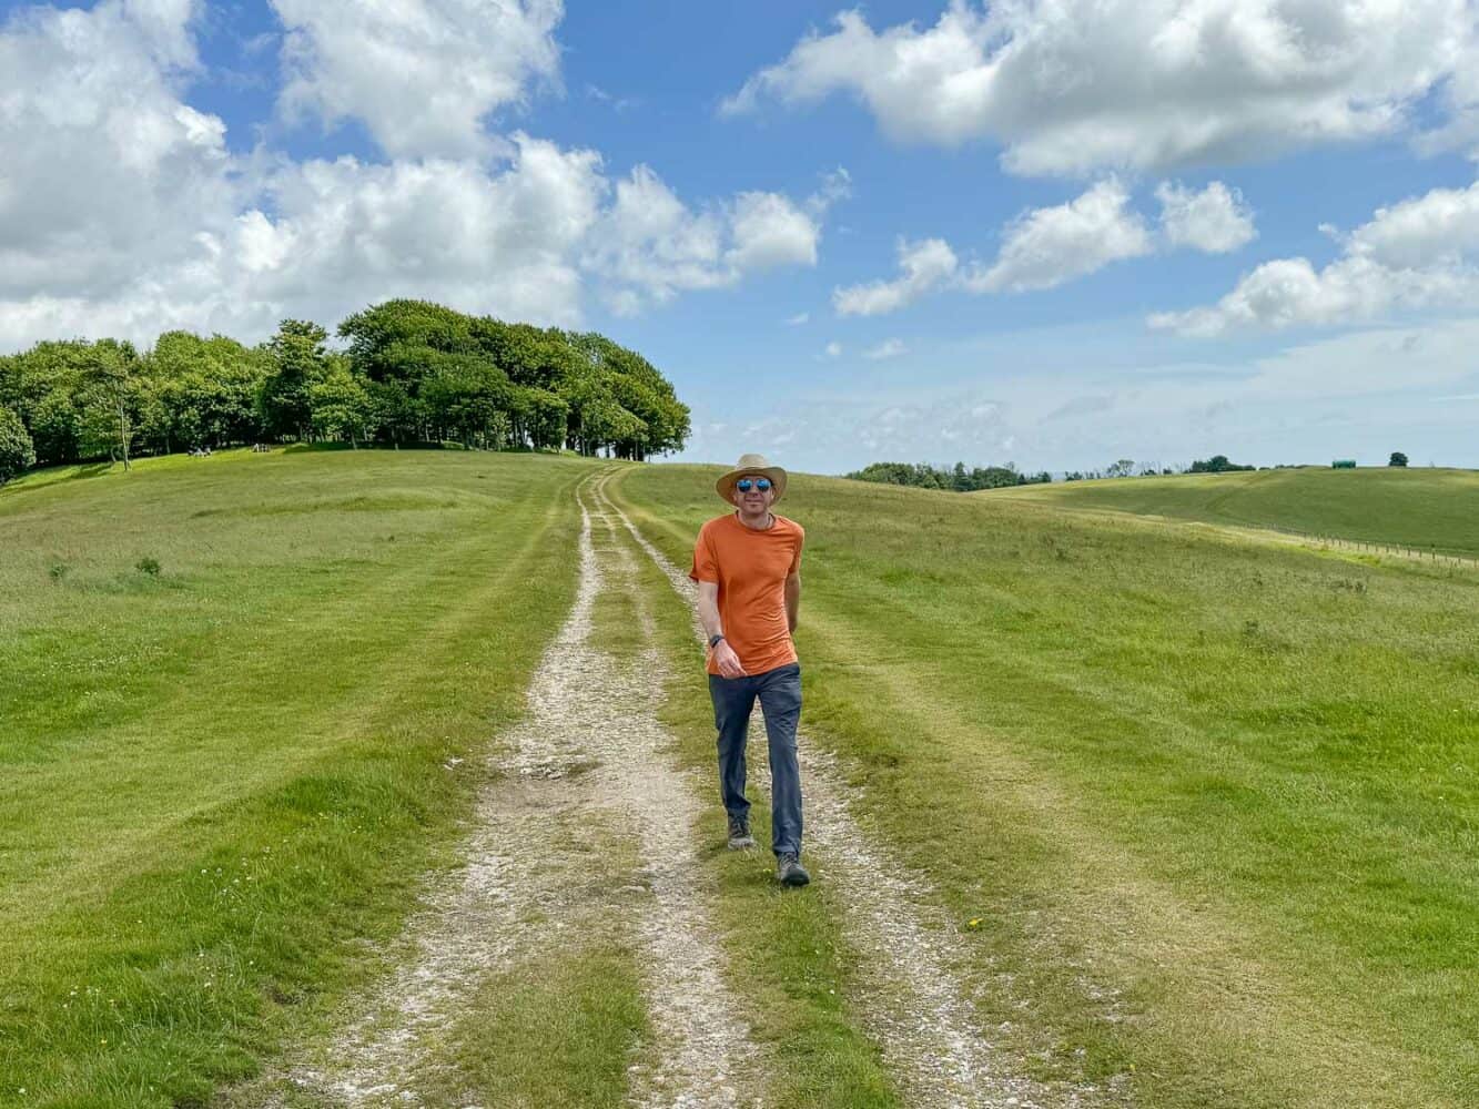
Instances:
[[[630,1066],[629,1103],[738,1108],[754,1103],[741,1090],[763,1088],[763,1059],[725,985],[705,908],[692,844],[698,803],[670,764],[671,736],[657,720],[661,658],[648,649],[618,659],[592,639],[596,599],[614,587],[608,563],[627,578],[634,568],[599,507],[606,535],[598,543],[593,534],[587,498],[595,491],[602,504],[605,481],[575,492],[575,602],[535,670],[528,717],[493,757],[498,776],[479,798],[461,850],[466,865],[423,896],[396,946],[398,969],[361,1001],[325,1062],[290,1074],[297,1097],[426,1105],[427,1074],[450,1068],[436,1041],[472,991],[524,954],[578,942],[583,921],[612,909],[621,921],[602,927],[623,930],[640,949],[655,1034]],[[651,627],[651,614],[640,617]],[[612,835],[636,840],[640,862],[624,886],[592,865]]]

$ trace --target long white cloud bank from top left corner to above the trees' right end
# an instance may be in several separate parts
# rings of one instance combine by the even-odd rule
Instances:
[[[0,347],[146,343],[176,327],[256,339],[285,315],[331,324],[390,296],[578,324],[592,290],[639,311],[813,265],[846,182],[828,174],[821,200],[750,191],[695,211],[646,167],[612,182],[598,152],[522,133],[386,164],[234,157],[225,123],[185,101],[194,10],[101,0],[0,24],[0,149],[27,152],[0,166]],[[501,10],[553,25],[559,9]]]

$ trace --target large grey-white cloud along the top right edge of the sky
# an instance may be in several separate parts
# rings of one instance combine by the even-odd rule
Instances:
[[[1168,169],[1395,132],[1479,80],[1472,24],[1464,0],[951,0],[883,31],[850,10],[722,111],[847,93],[896,140],[1001,142],[1018,173]]]

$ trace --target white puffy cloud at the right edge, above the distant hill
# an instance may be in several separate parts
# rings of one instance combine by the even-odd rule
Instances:
[[[1316,269],[1304,257],[1273,259],[1216,305],[1149,318],[1154,328],[1213,337],[1229,331],[1375,319],[1396,309],[1466,302],[1479,294],[1479,183],[1433,189],[1378,208]]]

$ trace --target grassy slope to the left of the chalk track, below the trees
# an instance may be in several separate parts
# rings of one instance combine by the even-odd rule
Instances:
[[[235,452],[0,494],[0,1105],[201,1103],[367,973],[450,861],[448,759],[522,713],[592,469]]]

